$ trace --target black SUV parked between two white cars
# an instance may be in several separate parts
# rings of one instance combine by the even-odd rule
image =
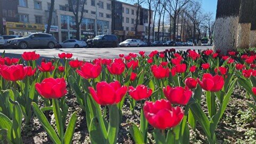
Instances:
[[[88,47],[117,47],[118,39],[115,35],[98,35],[86,41]]]

